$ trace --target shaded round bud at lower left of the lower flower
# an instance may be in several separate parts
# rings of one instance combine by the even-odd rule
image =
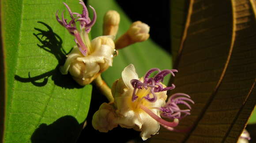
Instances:
[[[93,115],[92,126],[100,132],[108,132],[117,127],[116,114],[113,106],[103,103]]]

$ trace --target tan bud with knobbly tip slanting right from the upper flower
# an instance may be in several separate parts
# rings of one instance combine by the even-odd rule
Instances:
[[[136,42],[143,42],[149,38],[150,27],[141,22],[133,22],[130,28],[123,36],[116,41],[116,49],[122,49]]]

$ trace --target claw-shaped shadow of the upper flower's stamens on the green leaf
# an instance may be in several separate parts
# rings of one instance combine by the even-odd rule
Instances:
[[[71,75],[62,75],[59,71],[60,65],[65,63],[66,52],[62,47],[62,39],[58,36],[53,29],[44,22],[38,21],[38,23],[45,25],[47,30],[42,30],[38,28],[34,28],[39,33],[33,35],[38,39],[40,44],[37,46],[51,54],[53,54],[58,60],[58,65],[55,69],[45,72],[41,75],[37,75],[34,77],[30,77],[30,72],[28,73],[28,78],[20,77],[19,75],[15,75],[15,80],[19,82],[31,82],[34,86],[45,86],[48,82],[48,78],[52,76],[52,80],[54,84],[60,87],[73,89],[73,88],[82,88],[83,86],[79,86],[71,77]],[[42,82],[37,82],[38,80],[43,79]]]

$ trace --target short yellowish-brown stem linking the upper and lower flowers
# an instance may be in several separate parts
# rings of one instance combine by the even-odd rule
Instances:
[[[109,100],[109,102],[114,102],[113,95],[111,93],[111,89],[109,86],[102,80],[102,76],[99,75],[96,79],[94,79],[94,84],[101,90],[102,94]]]

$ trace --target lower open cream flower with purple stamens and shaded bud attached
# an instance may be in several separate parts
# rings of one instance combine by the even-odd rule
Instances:
[[[154,77],[150,77],[153,72],[158,72]],[[128,65],[122,72],[122,77],[113,83],[112,94],[114,102],[102,104],[93,116],[93,127],[100,132],[107,132],[117,125],[124,128],[133,128],[140,131],[143,140],[150,138],[158,132],[160,125],[175,131],[174,127],[179,124],[179,120],[190,114],[191,106],[194,104],[187,94],[175,93],[169,100],[167,90],[174,89],[175,86],[166,87],[162,84],[166,75],[177,70],[159,70],[153,68],[144,77],[138,78],[133,64]],[[182,110],[178,104],[184,104],[189,109]],[[163,118],[169,118],[173,122],[168,122]],[[109,122],[111,118],[111,122]]]

